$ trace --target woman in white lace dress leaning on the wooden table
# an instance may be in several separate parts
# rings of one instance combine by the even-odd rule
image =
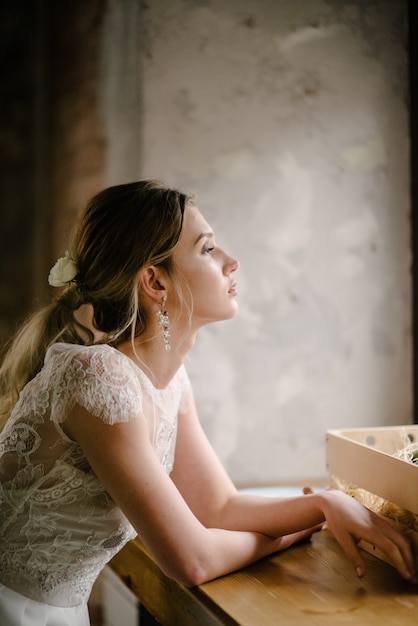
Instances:
[[[193,586],[326,521],[359,576],[362,538],[414,580],[407,540],[350,497],[243,495],[225,474],[183,362],[199,328],[236,314],[237,268],[175,190],[130,183],[87,206],[50,274],[60,295],[1,370],[2,626],[88,624],[94,580],[136,534]]]

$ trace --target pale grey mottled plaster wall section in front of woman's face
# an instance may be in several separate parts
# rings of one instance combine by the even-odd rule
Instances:
[[[324,476],[327,429],[412,420],[406,2],[128,5],[137,174],[241,262],[188,361],[204,428],[238,482]]]

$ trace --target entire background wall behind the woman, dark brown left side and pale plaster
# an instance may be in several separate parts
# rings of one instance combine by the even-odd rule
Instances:
[[[406,1],[24,5],[1,20],[4,71],[5,42],[26,54],[3,73],[1,336],[87,198],[158,177],[241,262],[239,317],[188,360],[236,481],[324,476],[328,428],[412,421]]]

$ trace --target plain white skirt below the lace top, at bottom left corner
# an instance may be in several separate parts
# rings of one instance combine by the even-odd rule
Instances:
[[[90,626],[87,604],[52,606],[36,602],[0,583],[1,626]]]

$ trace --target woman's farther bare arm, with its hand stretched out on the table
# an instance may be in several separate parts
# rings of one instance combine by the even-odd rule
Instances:
[[[360,539],[377,545],[405,578],[415,567],[409,542],[384,521],[338,491],[292,499],[239,494],[224,471],[197,418],[192,394],[180,415],[172,479],[198,519],[205,525],[283,536],[287,545],[300,531],[326,521],[359,576],[365,561]],[[294,535],[294,533],[297,533]]]

